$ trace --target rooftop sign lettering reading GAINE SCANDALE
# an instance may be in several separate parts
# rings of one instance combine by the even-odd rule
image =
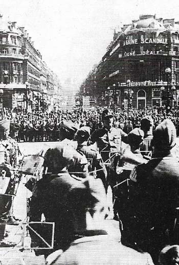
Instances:
[[[141,39],[127,39],[124,40],[123,46],[136,44],[168,44],[167,38],[141,38]]]

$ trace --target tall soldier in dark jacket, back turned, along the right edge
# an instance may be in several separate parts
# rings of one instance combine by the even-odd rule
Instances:
[[[130,209],[135,216],[131,218],[130,238],[135,238],[137,245],[156,261],[166,244],[178,242],[175,218],[179,206],[179,163],[175,155],[176,129],[171,120],[166,119],[155,128],[152,141],[152,159],[130,174],[133,182]]]

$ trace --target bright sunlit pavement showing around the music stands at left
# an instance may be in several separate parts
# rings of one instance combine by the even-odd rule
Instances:
[[[40,143],[19,143],[19,148],[21,152],[25,155],[34,154],[39,152],[42,148],[48,146],[53,146],[55,143],[50,142],[40,142]],[[31,196],[31,192],[25,187],[27,178],[23,176],[19,184],[17,194],[14,198],[14,209],[13,214],[16,218],[19,218],[26,222],[27,218],[27,198]],[[35,253],[29,250],[23,252],[19,251],[21,247],[21,237],[22,237],[22,227],[21,224],[18,226],[7,225],[6,232],[8,232],[8,237],[6,240],[10,242],[16,242],[17,246],[14,248],[0,248],[0,264],[3,265],[42,265],[44,264],[43,256],[35,256]],[[26,237],[26,240],[30,242],[30,238]]]

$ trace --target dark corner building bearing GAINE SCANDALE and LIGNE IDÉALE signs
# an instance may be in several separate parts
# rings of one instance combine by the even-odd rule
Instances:
[[[114,30],[114,39],[80,87],[93,104],[177,105],[179,21],[140,15]]]

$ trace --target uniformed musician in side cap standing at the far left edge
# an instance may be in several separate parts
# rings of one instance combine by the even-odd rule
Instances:
[[[18,178],[14,172],[17,165],[17,142],[9,137],[10,121],[0,122],[0,146],[1,146],[1,196],[0,196],[0,220],[2,223],[16,223],[18,219],[13,217],[13,198],[18,187]],[[5,174],[5,175],[4,175]],[[6,185],[8,183],[8,186]],[[5,189],[5,187],[7,188]],[[4,226],[5,229],[5,226]],[[3,232],[1,232],[3,233]]]

